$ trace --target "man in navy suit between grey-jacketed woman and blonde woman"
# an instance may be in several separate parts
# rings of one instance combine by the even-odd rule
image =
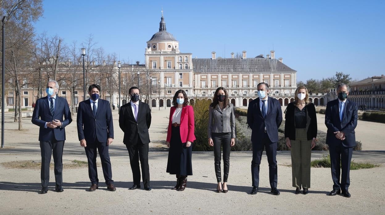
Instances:
[[[257,85],[258,97],[249,103],[247,110],[247,123],[251,128],[251,142],[253,144],[253,160],[251,161],[251,178],[253,189],[250,194],[255,195],[259,186],[259,165],[263,148],[266,148],[269,163],[269,180],[271,191],[274,195],[280,195],[277,189],[277,142],[278,128],[282,122],[282,110],[278,100],[268,97],[269,85],[259,83]]]

